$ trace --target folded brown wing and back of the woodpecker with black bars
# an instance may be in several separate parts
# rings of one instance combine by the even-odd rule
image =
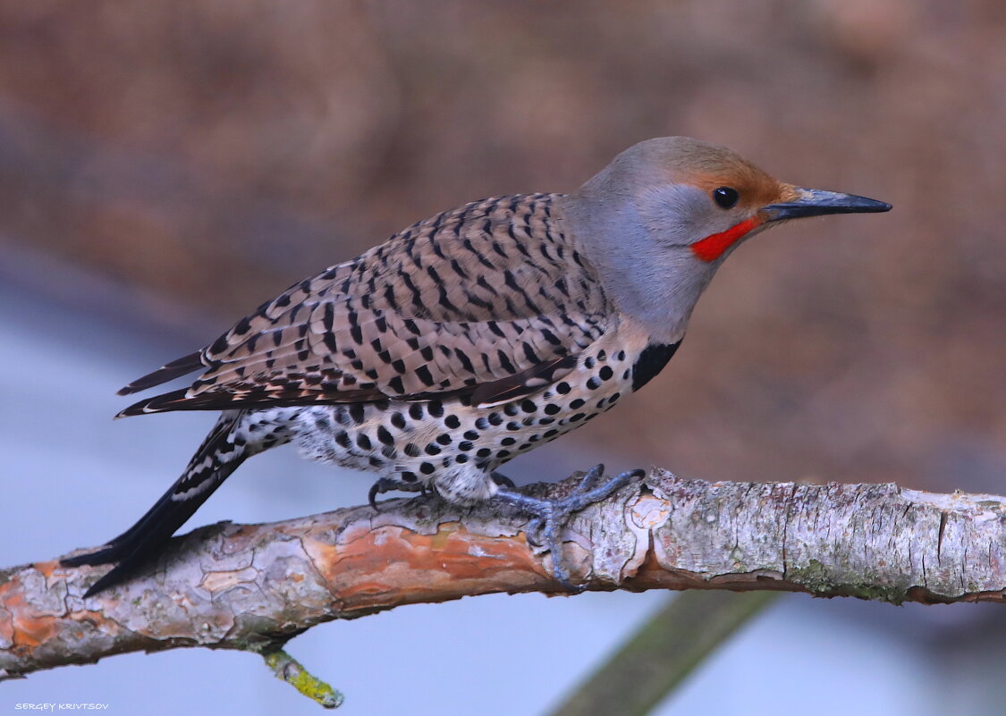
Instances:
[[[485,199],[413,224],[127,386],[205,369],[122,414],[445,393],[488,403],[557,380],[611,316],[553,215],[559,198]]]

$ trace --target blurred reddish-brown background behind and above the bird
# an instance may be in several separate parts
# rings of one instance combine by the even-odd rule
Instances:
[[[1001,0],[8,1],[0,260],[174,300],[180,354],[415,219],[692,135],[894,211],[743,247],[669,369],[550,450],[1001,493],[1004,38]]]

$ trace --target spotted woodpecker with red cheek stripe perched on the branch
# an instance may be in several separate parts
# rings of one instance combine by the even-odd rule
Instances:
[[[497,469],[657,375],[716,270],[748,238],[792,219],[890,208],[665,137],[625,150],[571,194],[496,196],[417,221],[122,388],[198,373],[117,417],[220,416],[136,524],[62,564],[115,564],[86,596],[134,577],[244,460],[294,442],[306,458],[375,474],[372,505],[390,490],[429,490],[523,511],[552,576],[575,589],[562,524],[643,471],[606,478],[597,466],[567,497],[543,499]]]

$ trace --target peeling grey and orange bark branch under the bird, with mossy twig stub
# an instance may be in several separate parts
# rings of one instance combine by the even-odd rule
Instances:
[[[561,496],[572,485],[529,490]],[[495,505],[459,511],[428,497],[378,513],[220,523],[175,540],[151,573],[89,599],[81,594],[105,568],[51,560],[3,569],[0,680],[124,652],[209,647],[263,653],[281,678],[304,682],[310,675],[281,648],[314,624],[466,595],[562,591],[527,522]],[[564,539],[573,580],[588,589],[1006,599],[1006,498],[991,495],[708,483],[654,470],[575,515]]]

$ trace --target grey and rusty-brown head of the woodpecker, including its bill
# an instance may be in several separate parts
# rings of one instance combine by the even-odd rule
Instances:
[[[574,240],[612,300],[679,338],[722,260],[782,221],[887,211],[882,201],[781,182],[734,152],[688,137],[630,147],[568,197]],[[659,325],[659,326],[658,326]]]

